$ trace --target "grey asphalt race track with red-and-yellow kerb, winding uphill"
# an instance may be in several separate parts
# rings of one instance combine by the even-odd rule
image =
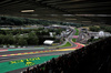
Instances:
[[[75,30],[67,38],[67,41],[71,43],[71,46],[68,48],[60,48],[60,49],[33,49],[32,50],[17,50],[17,51],[2,51],[0,52],[0,63],[12,61],[12,60],[21,60],[21,59],[28,59],[28,58],[38,58],[38,56],[46,56],[46,55],[62,55],[65,53],[69,53],[71,51],[74,51],[75,49],[82,48],[81,44],[73,43],[72,35],[75,33]],[[75,49],[74,49],[75,48]],[[36,53],[37,52],[37,53]],[[19,54],[19,55],[14,55]],[[13,72],[10,72],[13,73]]]

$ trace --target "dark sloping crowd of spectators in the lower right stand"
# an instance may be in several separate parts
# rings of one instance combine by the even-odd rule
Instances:
[[[111,73],[111,38],[94,42],[22,73]]]

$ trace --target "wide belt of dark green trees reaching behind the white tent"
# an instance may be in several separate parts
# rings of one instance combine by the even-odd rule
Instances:
[[[30,30],[0,30],[0,44],[10,45],[40,45],[46,40],[60,42],[60,39],[50,36],[49,32],[60,34],[64,29],[30,29]]]

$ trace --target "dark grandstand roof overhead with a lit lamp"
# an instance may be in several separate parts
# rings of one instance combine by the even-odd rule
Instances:
[[[110,24],[110,0],[1,0],[0,15]]]

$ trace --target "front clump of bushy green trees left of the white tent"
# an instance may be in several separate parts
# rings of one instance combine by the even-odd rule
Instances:
[[[30,32],[28,36],[26,35],[12,35],[12,34],[0,34],[0,44],[10,45],[38,45],[38,36]]]

